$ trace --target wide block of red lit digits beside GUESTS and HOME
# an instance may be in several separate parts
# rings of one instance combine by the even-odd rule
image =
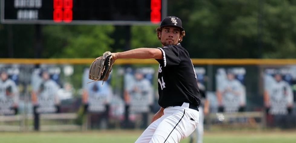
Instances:
[[[73,0],[54,0],[54,22],[69,23],[73,19]]]

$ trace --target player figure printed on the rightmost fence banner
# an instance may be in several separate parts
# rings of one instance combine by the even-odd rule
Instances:
[[[269,109],[268,113],[284,115],[291,112],[293,107],[292,89],[288,82],[282,80],[281,74],[276,73],[274,80],[275,82],[270,82],[269,86],[265,87],[264,104]]]

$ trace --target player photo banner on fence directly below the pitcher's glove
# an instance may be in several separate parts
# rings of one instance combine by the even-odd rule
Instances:
[[[113,92],[110,86],[110,79],[107,81],[94,81],[88,78],[89,69],[83,71],[83,103],[87,104],[88,112],[100,113],[106,111]],[[90,82],[90,83],[88,83]]]

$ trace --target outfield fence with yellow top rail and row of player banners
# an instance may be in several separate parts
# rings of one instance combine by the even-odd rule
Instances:
[[[159,109],[158,62],[118,59],[108,81],[87,84],[93,60],[0,58],[1,74],[12,81],[0,81],[0,130],[148,126]],[[206,129],[296,128],[296,59],[192,59],[192,63],[210,103]]]

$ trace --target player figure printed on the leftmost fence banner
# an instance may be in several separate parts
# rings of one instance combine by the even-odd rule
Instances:
[[[15,114],[18,112],[19,93],[15,82],[8,78],[6,70],[1,71],[0,98],[5,103],[5,108],[13,108]]]

